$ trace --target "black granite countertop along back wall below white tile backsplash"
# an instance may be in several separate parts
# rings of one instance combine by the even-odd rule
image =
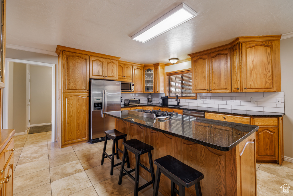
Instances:
[[[242,116],[252,116],[252,117],[282,117],[285,115],[284,113],[259,112],[259,111],[250,111],[250,110],[231,110],[231,112],[226,112],[227,109],[221,109],[221,108],[219,108],[219,111],[215,111],[215,109],[218,109],[218,108],[207,108],[207,110],[195,110],[195,109],[185,108],[186,106],[181,106],[181,107],[168,107],[168,105],[162,106],[160,103],[153,103],[153,104],[142,103],[139,105],[130,105],[130,106],[121,105],[121,108],[135,108],[139,106],[154,106],[154,107],[162,107],[162,108],[191,110],[191,111],[198,111],[198,112],[212,112],[212,113],[221,113],[221,114],[228,114],[228,115],[242,115]]]

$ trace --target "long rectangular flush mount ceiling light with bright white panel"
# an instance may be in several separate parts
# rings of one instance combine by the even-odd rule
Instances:
[[[131,39],[145,43],[182,23],[189,21],[195,16],[197,16],[197,13],[186,4],[182,3],[148,25],[146,28],[131,36]]]

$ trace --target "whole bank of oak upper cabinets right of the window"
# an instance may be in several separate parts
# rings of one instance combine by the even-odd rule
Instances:
[[[281,91],[280,38],[238,37],[229,44],[188,54],[193,92]]]

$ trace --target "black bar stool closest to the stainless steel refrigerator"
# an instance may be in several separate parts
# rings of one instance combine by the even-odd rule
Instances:
[[[127,137],[127,134],[121,133],[120,131],[117,131],[116,129],[112,129],[112,130],[105,131],[105,134],[106,134],[106,137],[105,137],[105,143],[104,143],[104,149],[103,149],[103,154],[102,154],[101,165],[104,164],[104,159],[105,158],[107,158],[107,157],[110,158],[111,159],[111,171],[110,171],[110,175],[113,175],[113,169],[114,169],[114,167],[116,167],[118,165],[121,165],[121,162],[120,163],[116,163],[114,165],[114,157],[116,155],[117,156],[117,159],[119,158],[118,151],[121,152],[121,153],[123,153],[123,151],[118,148],[118,140],[119,139],[123,139],[123,141],[125,141],[126,140],[125,138]],[[113,140],[113,147],[112,147],[112,154],[111,155],[109,155],[109,154],[107,154],[105,152],[106,151],[108,137]],[[116,153],[115,153],[115,144],[116,144]],[[130,168],[128,154],[126,154],[126,158],[127,158],[127,160],[126,160],[127,167]]]

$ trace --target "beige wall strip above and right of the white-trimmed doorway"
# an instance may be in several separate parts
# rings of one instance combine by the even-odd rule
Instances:
[[[55,139],[57,138],[58,57],[36,52],[6,48],[6,58],[55,64]]]

